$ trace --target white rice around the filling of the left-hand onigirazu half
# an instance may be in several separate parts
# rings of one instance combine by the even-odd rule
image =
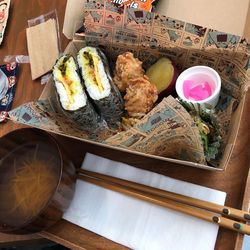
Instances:
[[[57,93],[59,95],[59,99],[61,102],[62,107],[65,110],[69,111],[75,111],[78,110],[86,105],[87,102],[87,96],[84,92],[84,89],[81,84],[81,79],[79,75],[77,74],[76,70],[76,64],[73,60],[73,57],[71,57],[67,62],[67,72],[70,72],[68,75],[68,79],[70,79],[72,82],[74,82],[74,86],[70,88],[71,91],[71,99],[69,98],[69,95],[62,84],[63,76],[61,71],[59,70],[59,66],[62,64],[63,59],[65,56],[61,57],[53,69],[53,75],[55,80],[55,86],[57,89]]]

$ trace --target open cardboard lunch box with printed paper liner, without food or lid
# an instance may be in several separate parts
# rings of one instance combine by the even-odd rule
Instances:
[[[66,9],[67,20],[70,7],[71,1]],[[75,5],[74,9],[77,9]],[[102,49],[109,59],[111,71],[118,55],[132,52],[143,62],[145,69],[159,58],[167,57],[179,71],[205,65],[220,74],[222,91],[215,115],[222,145],[218,157],[211,161],[212,164],[207,163],[196,124],[172,96],[166,96],[135,126],[125,131],[91,134],[74,126],[60,112],[51,79],[38,102],[18,107],[10,112],[10,118],[118,151],[184,166],[225,170],[235,145],[250,83],[250,44],[247,39],[157,13],[117,8],[104,0],[85,2],[82,17],[85,31],[74,36],[64,54],[76,57],[79,50],[88,45]]]

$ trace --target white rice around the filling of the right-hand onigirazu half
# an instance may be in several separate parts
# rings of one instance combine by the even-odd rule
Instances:
[[[88,61],[83,56],[84,52],[88,52],[90,55],[93,55],[93,56],[95,56],[95,58],[98,59],[97,68],[98,68],[99,78],[101,79],[101,85],[103,88],[102,90],[100,90],[98,88],[98,86],[93,82],[93,80],[89,76],[88,72],[89,72],[90,67],[86,66]],[[77,62],[78,62],[79,67],[81,68],[81,73],[82,73],[82,77],[84,79],[84,84],[86,86],[86,89],[87,89],[90,97],[93,100],[100,100],[100,99],[103,99],[105,97],[108,97],[110,94],[111,86],[110,86],[107,74],[105,72],[103,62],[102,62],[97,50],[93,47],[85,47],[85,48],[81,49],[78,53],[78,56],[77,56]]]

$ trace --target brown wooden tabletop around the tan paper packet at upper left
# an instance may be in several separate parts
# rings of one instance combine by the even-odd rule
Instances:
[[[11,1],[10,16],[5,31],[5,38],[0,46],[0,63],[3,63],[6,55],[28,55],[26,28],[28,20],[52,10],[57,10],[59,28],[62,30],[66,0],[14,0]],[[62,49],[66,47],[68,40],[61,33]],[[37,100],[43,90],[41,79],[32,81],[30,64],[21,64],[18,77],[18,85],[14,98],[13,108],[19,105]],[[23,126],[12,122],[0,124],[0,136]]]

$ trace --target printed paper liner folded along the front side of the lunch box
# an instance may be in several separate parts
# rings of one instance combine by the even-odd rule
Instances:
[[[30,102],[12,110],[10,118],[18,123],[82,140],[206,164],[198,128],[172,96],[158,104],[135,127],[120,133],[104,130],[88,134],[65,119],[56,103],[53,95],[48,100]]]

